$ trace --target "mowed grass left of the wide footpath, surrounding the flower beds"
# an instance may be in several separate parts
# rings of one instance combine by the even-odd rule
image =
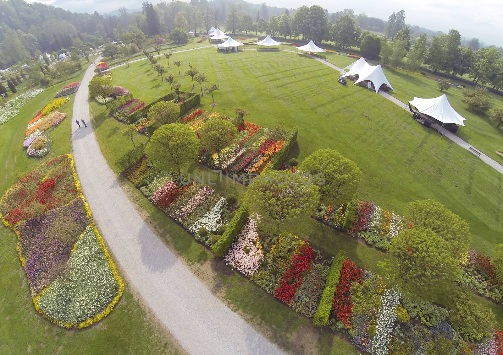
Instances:
[[[72,81],[79,81],[82,75],[83,72]],[[0,145],[0,196],[18,177],[37,165],[51,157],[71,153],[74,95],[70,95],[72,99],[61,109],[67,117],[48,135],[53,141],[52,152],[43,159],[36,159],[28,157],[23,148],[28,122],[64,85],[46,89],[24,105],[18,115],[0,126],[0,141],[3,142]],[[151,316],[131,293],[126,278],[126,289],[113,312],[89,328],[67,330],[43,318],[33,305],[16,244],[16,234],[0,223],[0,353],[69,354],[75,349],[93,354],[179,353],[179,346],[171,335],[150,321]],[[119,273],[125,276],[120,268]]]

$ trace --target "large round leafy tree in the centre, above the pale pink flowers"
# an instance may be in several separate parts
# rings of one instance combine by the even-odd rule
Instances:
[[[267,171],[252,182],[244,201],[269,222],[276,224],[279,234],[281,223],[293,221],[301,213],[311,215],[318,203],[316,186],[305,183],[297,174],[283,171]]]

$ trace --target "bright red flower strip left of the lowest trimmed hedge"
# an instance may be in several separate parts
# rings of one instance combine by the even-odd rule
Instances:
[[[279,298],[286,304],[290,304],[291,300],[295,296],[295,292],[302,284],[302,275],[306,271],[311,269],[313,262],[312,248],[306,242],[298,254],[295,254],[291,261],[288,269],[283,273],[280,285],[276,290],[274,290],[274,298]]]

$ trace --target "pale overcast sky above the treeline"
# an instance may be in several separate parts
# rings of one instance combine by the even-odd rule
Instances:
[[[150,0],[156,4],[155,0]],[[167,0],[166,0],[167,1]],[[267,0],[266,0],[267,1]],[[28,2],[33,2],[28,0]],[[129,9],[141,8],[140,0],[46,0],[65,10],[107,13],[124,6]],[[248,0],[261,3],[262,0]],[[458,30],[463,37],[477,37],[486,44],[503,46],[503,6],[501,0],[359,0],[335,4],[333,0],[269,0],[269,6],[298,8],[302,5],[321,5],[329,12],[351,8],[356,14],[365,12],[368,16],[387,20],[393,11],[405,10],[405,22],[426,27],[434,31]]]

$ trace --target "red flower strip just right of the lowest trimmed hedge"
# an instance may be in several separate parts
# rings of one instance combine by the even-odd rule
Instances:
[[[341,277],[337,285],[336,294],[333,297],[332,310],[336,313],[337,319],[342,320],[349,328],[351,318],[351,285],[353,282],[361,282],[363,270],[358,268],[351,260],[346,259],[341,268]]]

